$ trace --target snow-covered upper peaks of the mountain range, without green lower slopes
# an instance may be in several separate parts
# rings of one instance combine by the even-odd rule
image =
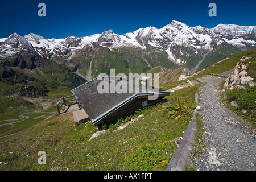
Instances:
[[[187,63],[189,56],[202,50],[203,53],[209,52],[221,43],[230,44],[234,49],[241,51],[247,47],[253,48],[256,46],[255,35],[256,26],[218,24],[208,29],[199,25],[191,27],[177,20],[172,20],[160,29],[149,26],[125,35],[115,34],[110,29],[102,34],[82,38],[70,36],[65,39],[46,39],[32,32],[24,36],[14,32],[9,38],[0,39],[0,42],[5,42],[0,45],[0,57],[13,55],[23,49],[43,57],[69,59],[71,56],[73,59],[73,56],[76,56],[75,51],[87,46],[93,49],[97,46],[109,49],[122,47],[146,49],[147,46],[151,46],[150,49],[158,49],[164,52],[169,60],[183,65]]]

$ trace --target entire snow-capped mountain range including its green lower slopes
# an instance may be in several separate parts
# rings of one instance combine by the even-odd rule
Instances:
[[[106,64],[109,59],[119,56],[117,59],[123,61],[129,72],[131,65],[141,63],[141,71],[145,67],[167,64],[169,68],[183,65],[193,73],[218,61],[216,57],[228,57],[255,46],[256,26],[218,24],[208,29],[190,27],[174,20],[160,29],[139,28],[125,35],[108,30],[82,38],[46,39],[32,33],[24,36],[14,33],[9,38],[0,39],[0,62],[29,53],[66,64],[74,71],[84,69],[89,72],[90,69],[95,71],[100,63],[105,61]],[[110,51],[108,55],[104,53],[106,49]],[[122,52],[123,49],[128,51]],[[106,64],[106,67],[110,65]]]

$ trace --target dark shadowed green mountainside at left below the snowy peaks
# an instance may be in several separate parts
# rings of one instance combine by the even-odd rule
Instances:
[[[7,67],[13,72],[10,78],[2,78],[1,83],[13,85],[16,82],[32,85],[40,90],[52,90],[60,86],[76,88],[86,82],[86,80],[76,73],[69,71],[64,65],[57,64],[53,60],[37,58],[35,61],[36,68],[21,69],[19,67]],[[0,65],[3,69],[3,65]],[[1,85],[1,84],[0,84]]]

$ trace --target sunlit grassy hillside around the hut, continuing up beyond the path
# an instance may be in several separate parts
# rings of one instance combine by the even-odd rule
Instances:
[[[196,77],[207,75],[208,72],[228,71],[234,68],[242,56],[251,53],[255,53],[255,49],[230,56]],[[176,149],[172,139],[183,135],[182,131],[187,128],[191,117],[185,114],[180,119],[171,119],[167,115],[167,108],[176,105],[178,98],[192,103],[198,87],[183,88],[171,93],[166,97],[167,102],[144,109],[144,119],[90,142],[88,139],[98,131],[92,123],[74,123],[72,113],[47,118],[34,127],[0,139],[0,169],[164,170]],[[198,116],[197,121],[200,122]],[[37,154],[41,150],[47,154],[46,165],[37,162]]]

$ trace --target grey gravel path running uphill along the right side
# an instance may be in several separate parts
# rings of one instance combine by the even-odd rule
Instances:
[[[225,78],[205,76],[199,80],[205,83],[199,92],[205,146],[191,165],[200,171],[255,171],[255,133],[220,100],[217,89]]]

